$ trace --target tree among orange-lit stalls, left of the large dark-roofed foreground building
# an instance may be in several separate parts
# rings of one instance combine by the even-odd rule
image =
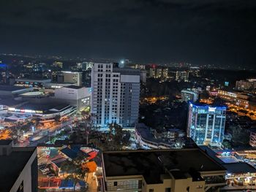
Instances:
[[[77,158],[74,158],[71,161],[67,159],[64,161],[64,163],[61,164],[61,170],[69,174],[66,177],[66,180],[72,180],[74,182],[74,191],[75,185],[77,185],[80,180],[84,180],[86,173],[89,172],[86,164],[84,164],[84,160],[84,156],[79,154]]]

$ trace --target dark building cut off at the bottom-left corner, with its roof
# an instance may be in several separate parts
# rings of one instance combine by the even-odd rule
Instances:
[[[13,147],[0,140],[0,191],[37,191],[37,147]]]

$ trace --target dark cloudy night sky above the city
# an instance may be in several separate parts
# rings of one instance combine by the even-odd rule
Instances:
[[[1,0],[0,52],[256,65],[255,0]]]

